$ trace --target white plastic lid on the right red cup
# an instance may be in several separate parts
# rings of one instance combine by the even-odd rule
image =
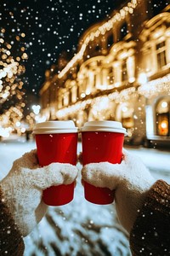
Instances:
[[[127,135],[127,131],[122,127],[122,123],[116,121],[89,121],[86,122],[81,131],[110,131]]]

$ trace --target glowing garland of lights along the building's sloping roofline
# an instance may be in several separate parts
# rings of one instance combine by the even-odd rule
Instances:
[[[94,38],[98,38],[99,35],[104,35],[105,32],[110,31],[111,28],[114,26],[114,23],[116,23],[116,21],[124,19],[127,14],[133,14],[133,9],[135,9],[137,5],[137,0],[131,0],[129,3],[127,3],[127,6],[124,6],[122,9],[120,9],[120,11],[116,13],[116,15],[113,15],[110,20],[105,22],[105,24],[99,26],[95,32],[91,32],[88,37],[85,38],[84,43],[82,44],[82,47],[77,55],[75,55],[71,59],[71,61],[65,66],[65,68],[59,73],[58,78],[61,79],[78,60],[82,59],[82,56],[84,55],[84,52],[90,41],[94,41]]]

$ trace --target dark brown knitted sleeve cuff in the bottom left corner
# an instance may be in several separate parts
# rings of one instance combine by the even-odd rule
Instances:
[[[21,256],[24,254],[24,241],[20,235],[8,207],[5,206],[0,189],[0,255]]]

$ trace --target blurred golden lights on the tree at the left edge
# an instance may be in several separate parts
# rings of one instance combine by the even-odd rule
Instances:
[[[20,80],[19,76],[22,73],[25,73],[25,67],[20,64],[20,61],[27,60],[28,56],[25,53],[25,47],[20,48],[20,55],[14,57],[12,56],[12,46],[4,40],[5,29],[1,29],[0,51],[2,53],[0,60],[0,104],[6,104],[8,107],[0,115],[0,126],[2,129],[15,127],[16,130],[19,129],[15,124],[20,122],[23,117],[23,108],[25,103],[22,101],[24,92],[22,91],[23,82]],[[24,38],[25,33],[21,34],[21,38]],[[15,37],[16,41],[20,41],[20,37]],[[9,99],[14,96],[15,102],[14,106],[9,104]],[[3,107],[2,107],[3,108]],[[8,131],[14,131],[14,128],[9,129]]]

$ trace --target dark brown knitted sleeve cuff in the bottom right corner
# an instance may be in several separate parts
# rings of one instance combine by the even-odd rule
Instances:
[[[170,255],[170,185],[151,188],[130,233],[133,255]]]

